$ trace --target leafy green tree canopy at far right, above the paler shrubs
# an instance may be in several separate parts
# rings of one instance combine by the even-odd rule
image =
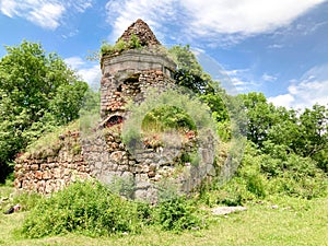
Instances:
[[[262,93],[238,95],[247,115],[248,140],[271,157],[289,154],[309,157],[328,171],[328,108],[314,105],[304,110],[274,107]]]

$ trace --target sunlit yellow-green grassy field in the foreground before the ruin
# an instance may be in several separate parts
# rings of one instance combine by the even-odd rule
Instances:
[[[226,216],[210,215],[206,230],[175,234],[153,226],[139,235],[102,238],[68,234],[26,239],[17,230],[28,212],[1,213],[0,245],[328,245],[328,198],[271,198],[246,207]]]

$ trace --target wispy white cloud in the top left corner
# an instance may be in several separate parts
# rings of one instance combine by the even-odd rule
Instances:
[[[84,12],[93,0],[0,0],[0,12],[23,17],[43,28],[56,30],[68,10]]]

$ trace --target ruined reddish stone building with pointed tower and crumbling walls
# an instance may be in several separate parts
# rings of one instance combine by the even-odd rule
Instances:
[[[26,154],[15,165],[15,186],[43,194],[56,191],[77,178],[95,177],[105,184],[120,181],[131,198],[155,202],[167,180],[180,192],[189,192],[204,178],[215,175],[213,139],[199,141],[192,132],[178,144],[150,144],[129,149],[121,131],[130,113],[129,103],[140,105],[150,89],[174,90],[176,65],[171,60],[148,24],[138,20],[118,38],[126,44],[138,39],[141,47],[105,54],[101,58],[101,127],[96,137],[66,132],[56,151]],[[168,138],[171,138],[168,136]],[[185,138],[185,139],[184,139]],[[139,144],[139,147],[140,147]],[[190,164],[188,153],[199,155]]]

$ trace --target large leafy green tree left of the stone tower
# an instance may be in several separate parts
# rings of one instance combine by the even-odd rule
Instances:
[[[0,60],[0,181],[15,155],[51,127],[79,117],[87,89],[57,54],[40,44],[7,46]]]

